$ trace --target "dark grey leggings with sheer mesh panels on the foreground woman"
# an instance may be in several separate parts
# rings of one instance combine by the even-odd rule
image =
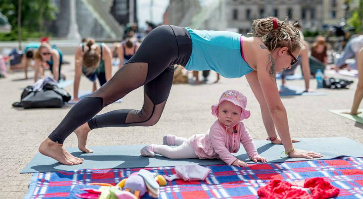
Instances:
[[[110,81],[72,107],[48,136],[49,139],[63,143],[66,137],[86,122],[91,129],[156,124],[170,93],[174,74],[172,65],[185,66],[191,52],[192,41],[185,28],[163,25],[152,30],[135,55]],[[96,115],[103,107],[142,85],[144,104],[140,110],[121,109]]]

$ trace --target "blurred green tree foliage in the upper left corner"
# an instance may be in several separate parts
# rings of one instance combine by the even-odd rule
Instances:
[[[0,40],[17,40],[18,0],[1,0],[0,12],[8,17],[12,32],[0,34]],[[51,0],[22,0],[21,35],[22,39],[46,35],[44,24],[56,19],[57,7]]]

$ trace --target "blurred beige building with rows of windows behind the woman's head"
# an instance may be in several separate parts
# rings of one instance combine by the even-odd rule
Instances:
[[[246,34],[252,20],[268,16],[299,21],[303,29],[337,25],[344,17],[344,0],[227,0],[229,28]]]

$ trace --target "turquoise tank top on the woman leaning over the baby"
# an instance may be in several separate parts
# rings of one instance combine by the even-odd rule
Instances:
[[[192,54],[185,69],[213,70],[223,77],[242,77],[253,69],[241,55],[241,34],[229,31],[193,30],[186,27],[192,39]]]

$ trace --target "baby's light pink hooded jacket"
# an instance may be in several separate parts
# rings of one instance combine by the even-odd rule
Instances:
[[[216,120],[206,134],[193,135],[189,137],[189,141],[195,154],[201,159],[221,158],[225,163],[231,165],[237,159],[231,153],[237,153],[240,143],[242,143],[252,160],[254,156],[258,155],[252,137],[249,136],[242,122],[239,122],[236,128],[237,133],[230,134],[227,132],[227,127]]]

